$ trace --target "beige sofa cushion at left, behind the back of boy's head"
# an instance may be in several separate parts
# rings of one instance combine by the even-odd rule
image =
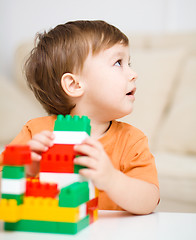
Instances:
[[[44,115],[44,110],[11,81],[0,77],[0,145],[8,144],[31,118]]]

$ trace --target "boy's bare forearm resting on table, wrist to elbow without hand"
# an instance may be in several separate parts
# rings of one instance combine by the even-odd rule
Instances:
[[[116,204],[132,214],[153,212],[160,198],[156,185],[128,177],[116,169],[105,191]]]

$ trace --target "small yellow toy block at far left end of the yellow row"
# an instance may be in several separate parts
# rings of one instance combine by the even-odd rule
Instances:
[[[0,200],[0,219],[5,222],[17,222],[21,215],[21,205],[15,199]]]

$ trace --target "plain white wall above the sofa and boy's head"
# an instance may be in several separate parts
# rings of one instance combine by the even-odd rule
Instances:
[[[17,46],[59,23],[102,19],[125,32],[196,30],[195,0],[0,0],[0,73],[12,75]]]

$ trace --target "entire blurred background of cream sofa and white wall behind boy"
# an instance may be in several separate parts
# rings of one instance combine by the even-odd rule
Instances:
[[[46,115],[23,64],[37,32],[69,20],[101,19],[130,39],[138,73],[134,112],[156,157],[158,211],[196,212],[196,1],[1,0],[0,150],[31,118]]]

